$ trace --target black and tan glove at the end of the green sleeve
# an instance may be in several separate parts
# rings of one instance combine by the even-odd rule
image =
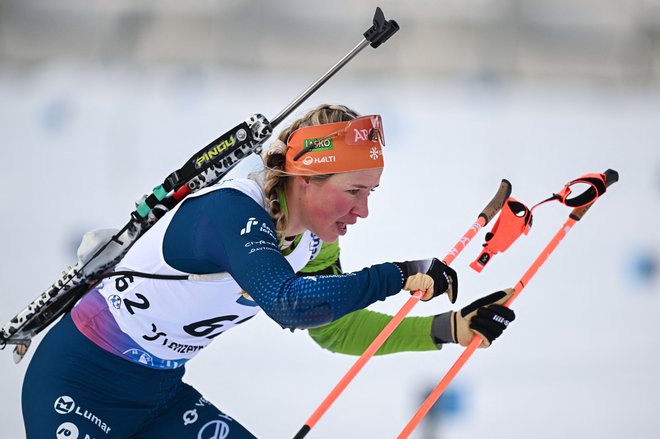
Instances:
[[[460,343],[467,346],[474,333],[483,341],[479,347],[486,348],[516,318],[512,309],[505,307],[513,294],[512,289],[497,291],[478,299],[460,311],[449,311],[433,318],[431,336],[436,344]]]

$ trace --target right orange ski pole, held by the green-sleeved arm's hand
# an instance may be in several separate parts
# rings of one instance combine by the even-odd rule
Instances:
[[[605,175],[605,185],[607,187],[616,183],[619,180],[618,172],[612,169],[608,169],[607,171],[605,171],[604,175]],[[527,269],[525,274],[522,276],[522,278],[520,278],[520,280],[513,289],[513,294],[511,298],[504,304],[504,306],[506,307],[511,306],[511,303],[518,297],[520,292],[525,288],[525,286],[529,283],[532,277],[534,277],[538,269],[548,259],[548,256],[550,256],[550,254],[555,250],[555,248],[559,245],[562,239],[564,239],[564,236],[566,236],[566,234],[571,230],[573,225],[575,225],[576,222],[582,219],[582,217],[587,212],[587,210],[589,210],[589,208],[596,202],[597,198],[598,197],[596,197],[591,203],[582,207],[576,207],[571,211],[566,222],[561,226],[559,231],[557,231],[557,233],[552,237],[548,245],[541,251],[541,253],[538,255],[536,260],[532,263],[532,265]],[[465,348],[465,350],[458,358],[458,360],[456,360],[454,365],[449,369],[449,371],[445,374],[442,380],[440,380],[438,385],[433,389],[431,394],[422,403],[419,410],[417,410],[417,413],[415,413],[412,419],[401,431],[399,436],[397,436],[398,439],[404,439],[410,436],[410,434],[417,427],[419,422],[424,418],[424,416],[426,415],[426,413],[428,413],[431,407],[433,407],[433,404],[435,404],[438,398],[440,398],[440,395],[442,395],[442,393],[447,389],[449,383],[454,379],[456,374],[465,365],[467,360],[472,356],[472,354],[479,347],[482,341],[483,338],[475,333],[474,336],[472,337],[472,340]]]

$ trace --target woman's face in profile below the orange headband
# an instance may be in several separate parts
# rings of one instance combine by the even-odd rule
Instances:
[[[369,215],[369,193],[379,185],[382,173],[382,169],[368,169],[322,180],[296,177],[301,184],[296,203],[301,225],[325,242],[336,241],[349,225]]]

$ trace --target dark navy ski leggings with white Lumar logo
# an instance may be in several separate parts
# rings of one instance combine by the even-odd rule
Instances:
[[[39,344],[23,382],[28,439],[254,438],[184,383],[107,352],[67,314]]]

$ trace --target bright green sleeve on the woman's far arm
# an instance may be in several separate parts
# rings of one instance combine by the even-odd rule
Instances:
[[[339,240],[322,244],[319,255],[301,272],[341,273]],[[392,316],[370,310],[354,311],[327,325],[309,329],[309,335],[319,346],[331,352],[362,355],[371,342],[392,320]],[[375,355],[405,351],[434,351],[438,346],[431,337],[430,317],[406,317]]]

